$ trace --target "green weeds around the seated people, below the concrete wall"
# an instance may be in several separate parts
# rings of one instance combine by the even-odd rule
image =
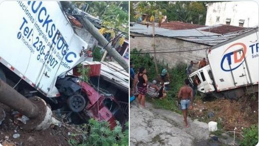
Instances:
[[[141,51],[141,50],[140,50]],[[130,54],[130,61],[134,62],[134,68],[136,71],[141,66],[144,66],[147,69],[147,76],[148,80],[151,81],[153,79],[159,79],[160,74],[155,74],[155,65],[153,63],[153,57],[150,56],[148,53],[146,54],[139,54],[136,53],[138,50],[134,48],[131,52],[135,52]],[[163,68],[168,68],[167,64],[165,65],[163,62],[157,64],[158,70],[161,72]],[[181,113],[179,108],[177,107],[177,95],[180,87],[184,85],[184,79],[186,77],[185,69],[186,64],[180,63],[175,65],[171,69],[167,69],[170,77],[170,84],[167,92],[167,97],[163,100],[156,99],[150,100],[156,108],[163,108],[167,110],[172,110],[178,113]],[[136,72],[135,71],[135,72]]]

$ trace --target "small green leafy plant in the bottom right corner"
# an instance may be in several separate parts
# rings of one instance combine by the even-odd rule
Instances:
[[[243,136],[244,138],[241,140],[240,145],[256,145],[258,143],[258,125],[243,129]]]

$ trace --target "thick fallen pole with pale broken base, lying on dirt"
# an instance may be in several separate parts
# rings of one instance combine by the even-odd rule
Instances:
[[[24,125],[24,129],[42,130],[49,128],[53,122],[59,124],[52,117],[51,109],[42,98],[32,97],[28,99],[2,79],[0,79],[0,102],[30,118]]]

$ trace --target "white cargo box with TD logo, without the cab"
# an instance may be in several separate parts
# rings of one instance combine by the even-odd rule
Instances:
[[[258,84],[258,28],[217,44],[207,58],[217,91]]]

